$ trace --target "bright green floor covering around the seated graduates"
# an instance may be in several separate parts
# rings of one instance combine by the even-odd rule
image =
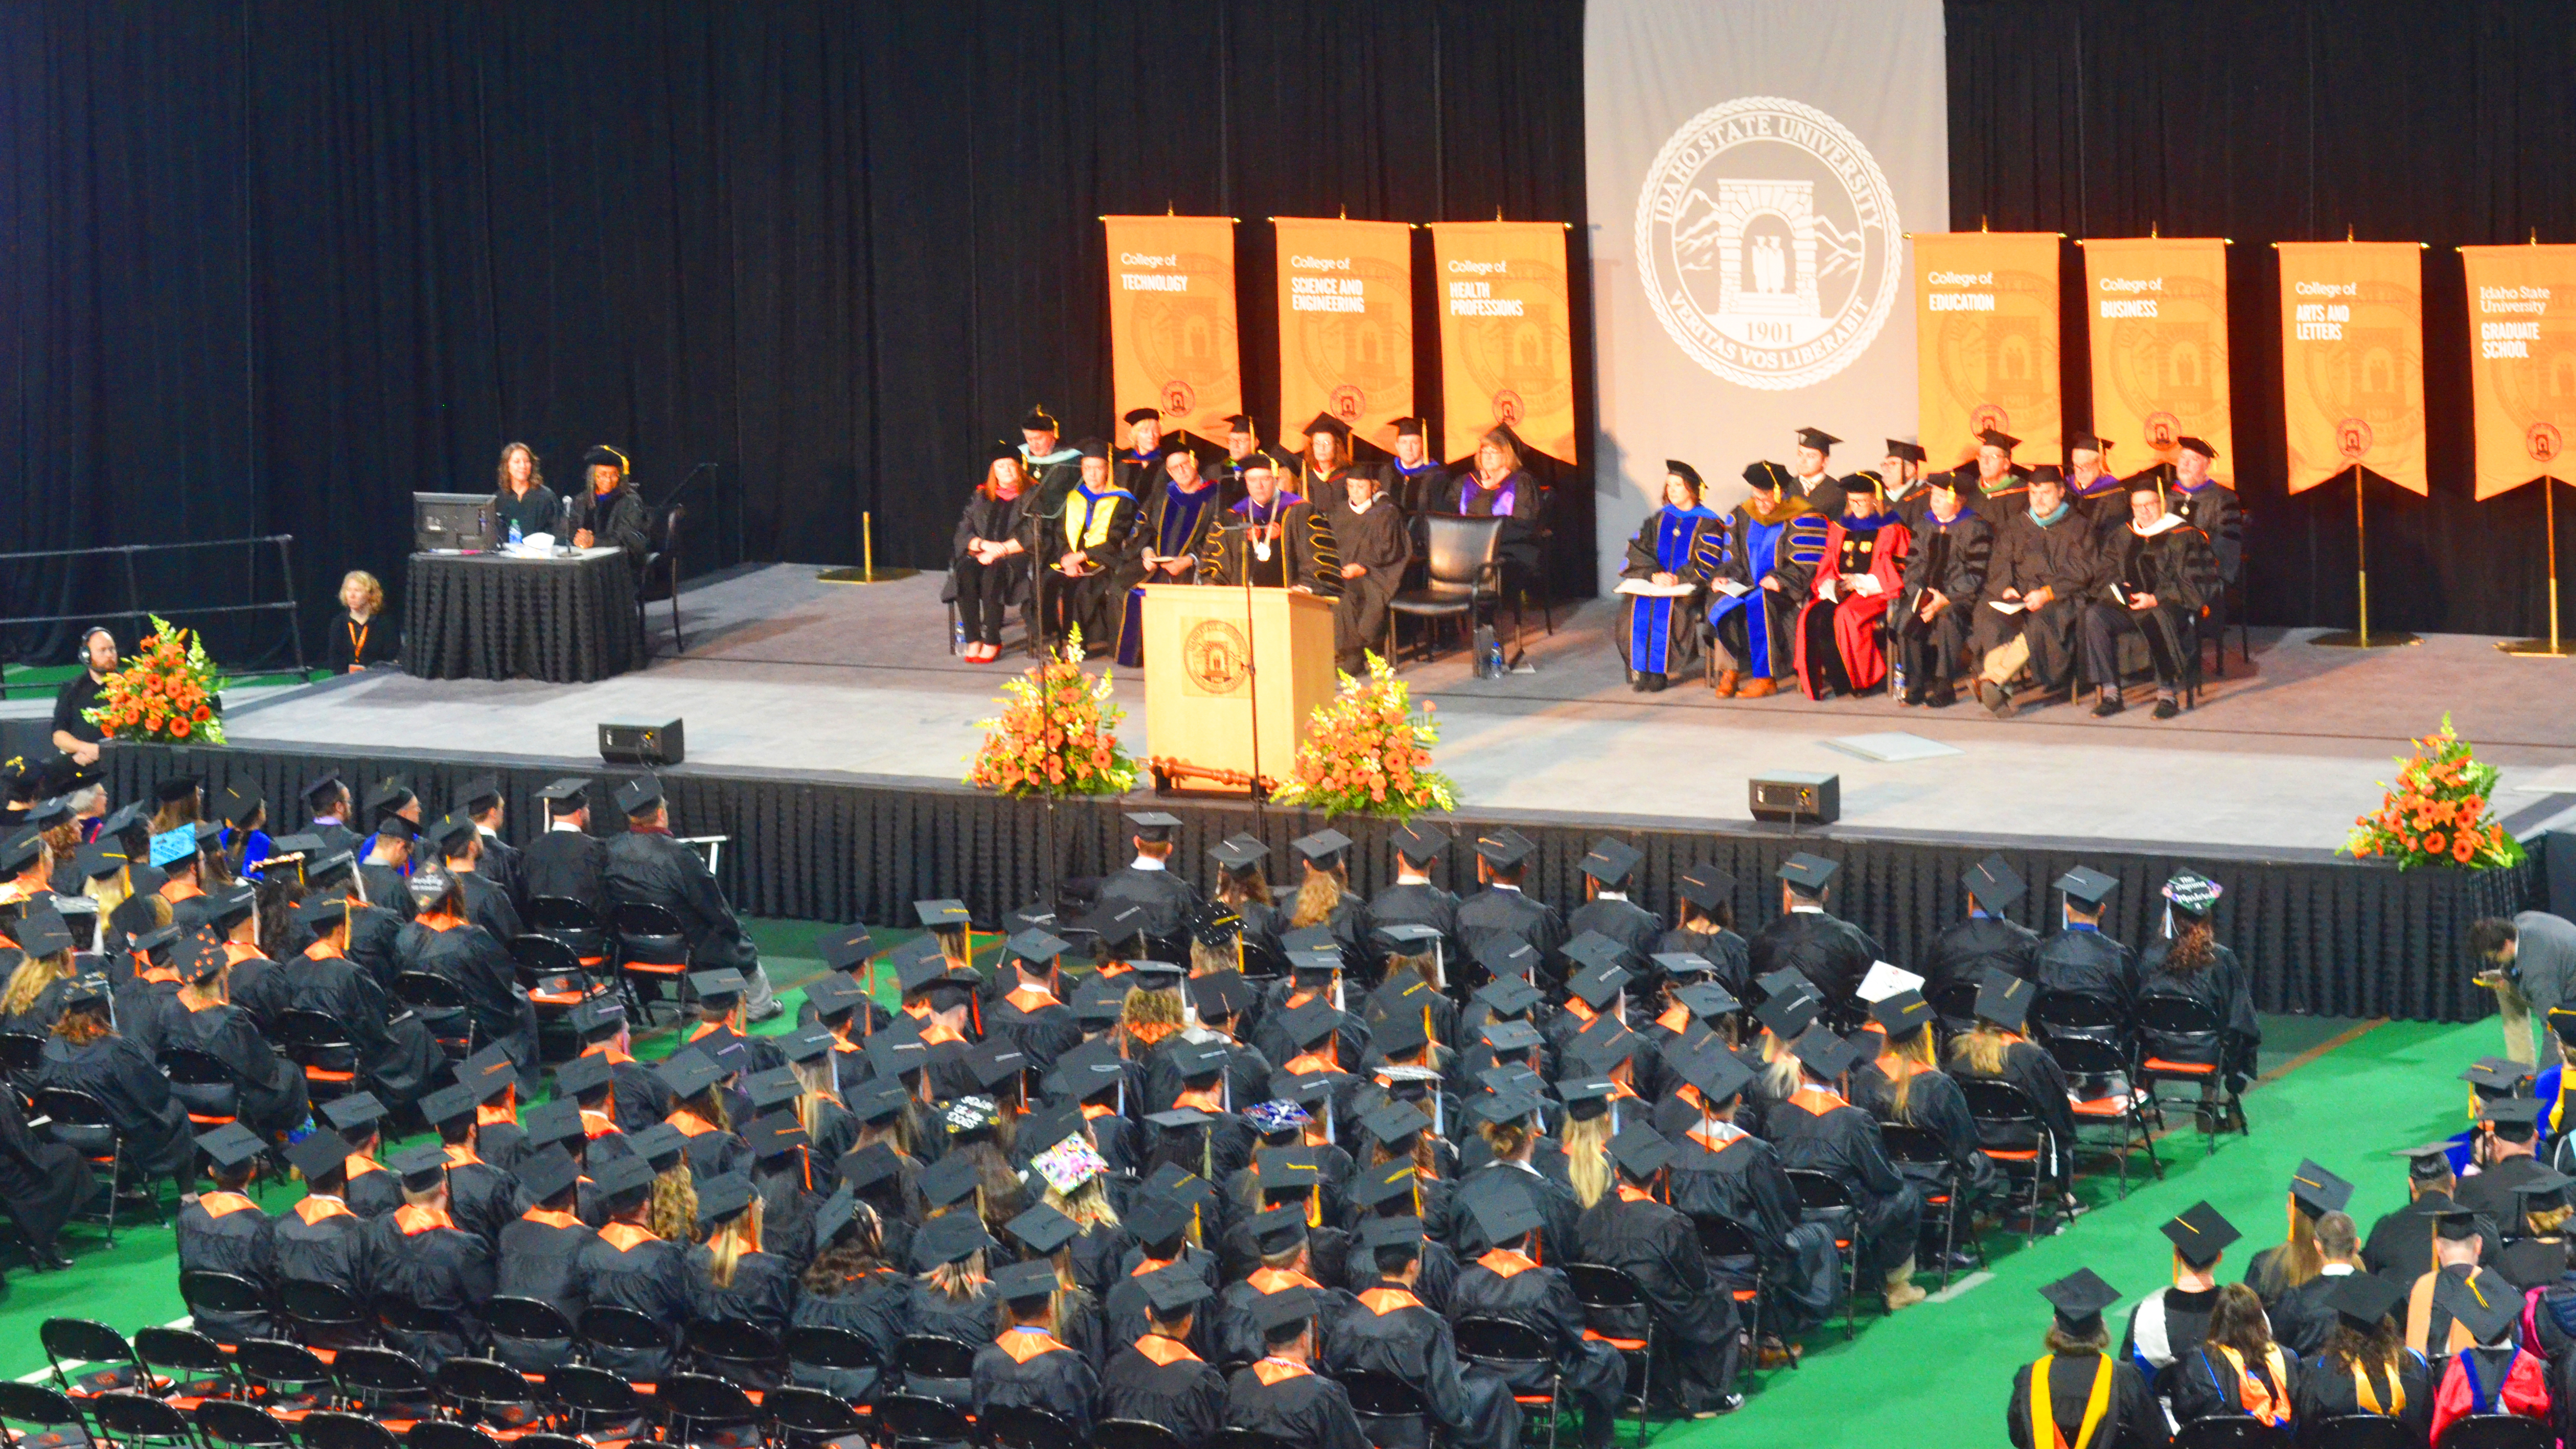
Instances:
[[[811,957],[814,936],[811,923],[755,923],[781,987],[822,967]],[[2223,1269],[2233,1279],[2257,1248],[2280,1238],[2285,1183],[2300,1158],[2316,1158],[2360,1186],[2352,1214],[2367,1230],[2380,1212],[2406,1201],[2403,1165],[2388,1152],[2455,1132],[2463,1104],[2455,1073],[2496,1047],[2491,1024],[2354,1029],[2267,1021],[2267,1039],[2306,1055],[2264,1052],[2267,1080],[2246,1096],[2254,1137],[2228,1137],[2215,1155],[2202,1155],[2184,1116],[2184,1129],[2159,1145],[2166,1158],[2161,1183],[2138,1183],[2120,1199],[2107,1173],[2089,1171],[2081,1191],[2097,1207],[2063,1235],[2038,1245],[1989,1235],[1991,1276],[1965,1276],[1947,1302],[1924,1302],[1896,1318],[1880,1315],[1873,1302],[1850,1343],[1839,1323],[1819,1328],[1806,1336],[1803,1366],[1747,1377],[1741,1413],[1659,1426],[1654,1444],[2002,1444],[2012,1372],[2040,1351],[2048,1312],[2035,1292],[2040,1284],[2094,1269],[2123,1292],[2110,1310],[2112,1323],[2123,1323],[2141,1294],[2169,1281],[2172,1253],[2156,1225],[2200,1199],[2218,1204],[2246,1232]],[[644,1055],[665,1049],[667,1034],[644,1044]],[[270,1212],[286,1201],[289,1189],[265,1199]],[[8,1276],[0,1374],[44,1366],[33,1333],[44,1318],[82,1315],[137,1328],[185,1312],[167,1227],[121,1230],[113,1250],[100,1245],[95,1227],[75,1227],[67,1248],[80,1261],[70,1274]],[[1937,1284],[1927,1276],[1924,1287]],[[1620,1444],[1633,1434],[1636,1426],[1625,1423]]]

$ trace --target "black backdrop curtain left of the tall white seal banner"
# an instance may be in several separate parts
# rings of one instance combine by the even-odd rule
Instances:
[[[294,531],[319,621],[348,567],[399,598],[407,495],[489,490],[523,438],[556,487],[611,441],[654,500],[721,464],[690,567],[855,562],[860,511],[945,567],[1030,402],[1108,433],[1097,217],[1167,206],[1244,222],[1278,436],[1270,217],[1566,219],[1587,276],[1582,5],[5,5],[0,552]],[[1422,276],[1437,413],[1427,242]],[[1558,487],[1582,593],[1589,508]],[[237,593],[237,559],[144,580]],[[116,598],[0,570],[0,614]]]

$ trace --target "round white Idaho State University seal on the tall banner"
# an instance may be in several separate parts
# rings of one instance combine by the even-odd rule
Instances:
[[[1770,392],[1824,382],[1878,338],[1901,235],[1868,147],[1777,95],[1685,121],[1636,199],[1636,266],[1664,333]]]

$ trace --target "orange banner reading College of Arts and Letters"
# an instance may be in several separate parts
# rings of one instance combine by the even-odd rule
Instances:
[[[2424,487],[2424,248],[2277,242],[2290,492],[2365,467]]]

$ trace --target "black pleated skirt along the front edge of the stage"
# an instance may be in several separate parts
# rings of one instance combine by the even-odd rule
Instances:
[[[505,835],[526,841],[541,820],[536,792],[580,773],[621,781],[631,771],[598,761],[487,761],[392,753],[283,753],[250,748],[134,745],[106,755],[113,799],[147,799],[152,781],[198,773],[209,792],[237,784],[270,802],[294,802],[304,784],[337,771],[361,794],[386,776],[404,779],[433,807],[446,807],[471,776],[497,773],[507,799]],[[729,768],[688,768],[662,776],[672,830],[680,835],[732,835],[719,879],[750,915],[801,920],[912,923],[914,900],[956,897],[992,928],[1005,910],[1048,897],[1064,882],[1097,877],[1128,859],[1121,807],[1097,799],[1046,804],[1002,799],[963,786],[922,786],[896,779],[760,776]],[[1324,817],[1301,810],[1255,812],[1242,804],[1162,802],[1180,815],[1175,866],[1206,882],[1208,846],[1249,830],[1273,861],[1293,859],[1288,843],[1319,830]],[[611,815],[605,810],[595,812]],[[301,817],[296,817],[301,820]],[[1394,882],[1394,828],[1386,820],[1332,820],[1358,841],[1352,890],[1373,895]],[[1561,908],[1584,900],[1577,864],[1597,825],[1530,812],[1468,812],[1443,817],[1461,841],[1443,853],[1432,879],[1458,895],[1476,890],[1468,841],[1479,828],[1512,825],[1538,843],[1528,890]],[[595,820],[595,830],[613,830]],[[283,833],[286,825],[270,825]],[[2509,871],[2398,871],[2336,859],[2329,851],[2190,851],[2169,846],[2079,848],[2053,841],[1914,838],[1901,833],[1816,833],[1785,828],[1669,822],[1623,828],[1618,838],[1646,853],[1633,897],[1672,915],[1680,871],[1713,864],[1736,877],[1739,928],[1752,933],[1780,913],[1772,871],[1793,851],[1842,861],[1832,908],[1857,920],[1896,964],[1917,962],[1945,926],[1965,915],[1960,877],[1999,851],[2030,882],[2050,882],[2087,864],[2120,879],[2105,931],[2143,946],[2161,928],[2156,890],[2174,866],[2192,866],[2226,887],[2218,902],[2218,938],[2236,949],[2254,980],[2262,1011],[2321,1016],[2398,1016],[2414,1021],[2473,1021],[2494,1011],[2494,995],[2470,985],[2463,954],[2468,923],[2512,915],[2540,887],[2543,866]],[[1280,877],[1288,879],[1288,877]],[[2045,905],[2043,905],[2045,895]],[[2056,920],[2056,895],[2032,890],[2012,913],[2043,928]]]

